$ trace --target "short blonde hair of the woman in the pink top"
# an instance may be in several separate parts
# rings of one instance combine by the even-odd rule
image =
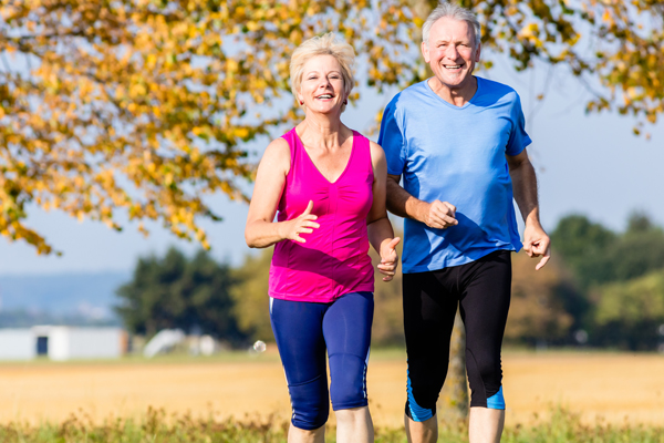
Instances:
[[[353,64],[355,63],[355,51],[349,43],[338,41],[332,32],[324,35],[314,37],[307,40],[295,49],[291,56],[290,75],[291,90],[293,96],[298,100],[298,92],[302,86],[302,75],[304,64],[318,55],[332,55],[341,66],[341,76],[343,78],[343,89],[346,96],[351,94],[355,79],[353,78]],[[341,112],[345,110],[345,104],[341,106]]]

